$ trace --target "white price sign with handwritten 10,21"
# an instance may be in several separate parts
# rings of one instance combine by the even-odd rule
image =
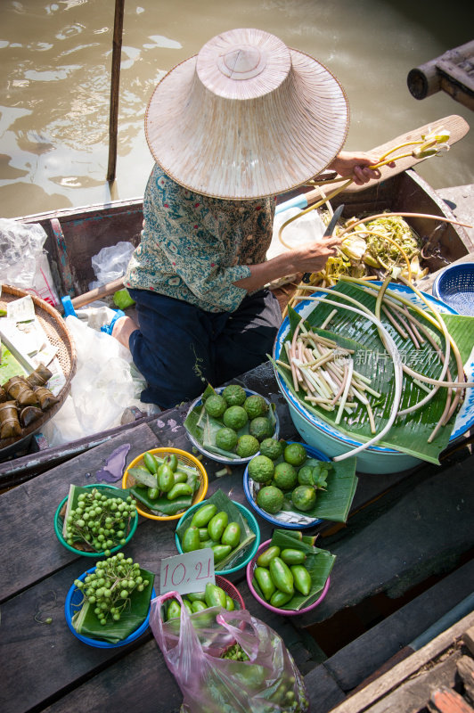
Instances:
[[[216,583],[214,553],[210,547],[161,560],[159,594],[203,592],[208,582]]]

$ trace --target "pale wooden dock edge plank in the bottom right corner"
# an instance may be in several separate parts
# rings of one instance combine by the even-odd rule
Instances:
[[[420,651],[414,652],[387,673],[367,684],[358,693],[350,695],[346,701],[331,709],[331,713],[364,713],[364,711],[372,709],[372,706],[388,696],[389,693],[395,692],[396,688],[403,685],[408,678],[416,676],[422,667],[428,666],[432,660],[437,659],[456,643],[459,643],[471,627],[474,627],[474,611],[427,643]],[[472,639],[472,634],[470,633],[464,638],[469,645],[467,640]],[[404,711],[399,710],[398,713],[404,713]]]

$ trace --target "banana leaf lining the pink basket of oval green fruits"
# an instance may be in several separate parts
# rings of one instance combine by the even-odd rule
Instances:
[[[336,555],[331,554],[327,550],[322,550],[319,547],[306,545],[304,542],[289,536],[288,533],[282,529],[274,530],[270,545],[276,545],[280,547],[281,550],[285,547],[289,547],[293,550],[303,550],[303,552],[306,553],[306,560],[303,564],[311,575],[311,590],[307,596],[296,592],[290,599],[290,602],[287,602],[280,607],[280,609],[294,611],[305,609],[321,596],[327,579],[331,574],[334,561],[336,560]],[[257,591],[257,594],[259,594],[259,596],[266,601],[255,578],[252,580],[252,585]]]

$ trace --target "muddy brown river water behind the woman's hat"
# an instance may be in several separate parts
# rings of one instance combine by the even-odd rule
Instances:
[[[152,166],[143,118],[153,87],[210,37],[235,27],[266,29],[331,69],[350,104],[347,149],[369,150],[449,114],[472,123],[472,112],[448,94],[419,102],[406,86],[414,66],[471,39],[469,6],[464,0],[451,9],[439,0],[126,0],[117,177],[109,185],[113,0],[3,0],[0,216],[143,195]],[[435,188],[474,183],[473,135],[419,172]]]

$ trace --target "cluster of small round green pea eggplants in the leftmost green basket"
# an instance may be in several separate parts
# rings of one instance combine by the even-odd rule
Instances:
[[[71,547],[85,542],[96,552],[110,555],[116,545],[125,545],[130,520],[135,517],[136,500],[128,496],[126,500],[101,493],[92,488],[78,496],[78,504],[71,508],[66,517],[65,540]]]

